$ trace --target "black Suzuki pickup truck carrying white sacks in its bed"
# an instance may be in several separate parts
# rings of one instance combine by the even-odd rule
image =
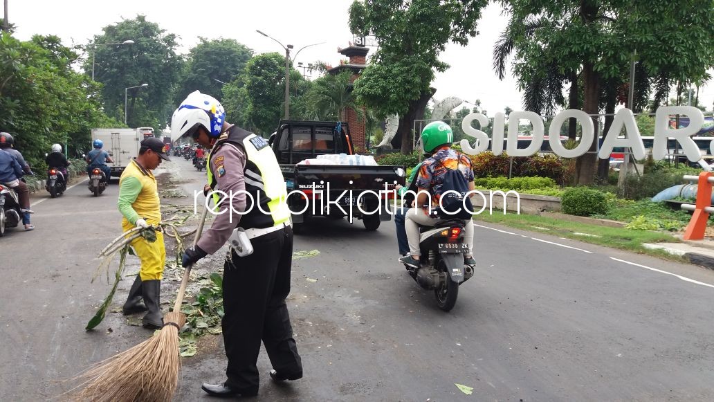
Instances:
[[[391,220],[389,200],[393,187],[404,184],[404,166],[299,164],[319,155],[353,155],[348,124],[283,120],[268,144],[283,171],[295,233],[316,216],[361,219],[368,231]]]

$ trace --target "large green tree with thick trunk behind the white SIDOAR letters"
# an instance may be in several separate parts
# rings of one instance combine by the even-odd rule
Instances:
[[[714,64],[713,0],[501,3],[511,14],[513,72],[521,85],[537,80],[545,66],[563,74],[580,71],[588,114],[599,113],[601,89],[628,71],[635,51],[645,74],[658,83],[655,96],[668,91],[673,80],[701,81]],[[590,150],[595,146],[593,141]],[[593,182],[595,159],[594,153],[578,158],[578,183]]]

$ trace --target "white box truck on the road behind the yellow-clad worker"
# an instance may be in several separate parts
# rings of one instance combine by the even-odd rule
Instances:
[[[111,176],[120,177],[131,159],[139,155],[139,142],[144,134],[139,129],[91,129],[91,141],[100,139],[104,151],[114,161],[109,164]]]

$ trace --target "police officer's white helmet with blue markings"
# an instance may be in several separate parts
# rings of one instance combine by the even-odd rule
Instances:
[[[209,137],[218,138],[225,120],[226,110],[220,102],[213,96],[194,91],[181,102],[171,117],[171,139],[193,136],[198,126],[203,126]]]

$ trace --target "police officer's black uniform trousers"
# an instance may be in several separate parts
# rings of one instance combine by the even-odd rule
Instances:
[[[293,339],[288,306],[293,258],[290,226],[251,238],[253,253],[223,267],[223,341],[228,368],[226,385],[258,388],[258,353],[261,340],[273,368],[286,374],[302,373],[303,366]]]

